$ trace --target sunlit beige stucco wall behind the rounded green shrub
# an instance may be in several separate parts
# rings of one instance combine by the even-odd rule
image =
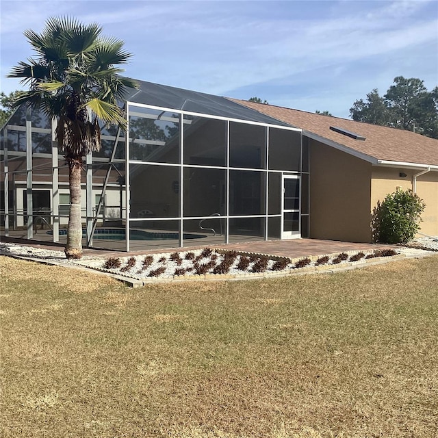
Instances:
[[[413,175],[420,170],[406,170],[403,168],[372,169],[371,207],[378,201],[383,201],[385,196],[393,193],[398,187],[403,190],[412,189]],[[404,173],[406,177],[400,177]],[[426,203],[422,214],[420,232],[428,235],[438,235],[438,172],[428,172],[417,177],[417,194]]]

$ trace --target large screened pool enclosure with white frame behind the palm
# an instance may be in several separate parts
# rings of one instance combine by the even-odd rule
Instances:
[[[129,129],[103,129],[82,178],[83,246],[212,246],[309,235],[302,131],[220,96],[140,82]],[[1,234],[66,241],[56,120],[18,108],[1,129]]]

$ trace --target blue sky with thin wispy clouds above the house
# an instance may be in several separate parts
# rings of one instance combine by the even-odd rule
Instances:
[[[134,54],[125,74],[237,99],[348,117],[396,76],[438,85],[438,1],[1,0],[0,90],[32,55],[23,30],[49,16],[103,25]]]

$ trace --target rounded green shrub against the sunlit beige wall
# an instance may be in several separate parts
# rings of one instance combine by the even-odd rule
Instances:
[[[411,190],[398,190],[377,203],[372,213],[374,242],[406,243],[420,229],[421,214],[426,204]]]

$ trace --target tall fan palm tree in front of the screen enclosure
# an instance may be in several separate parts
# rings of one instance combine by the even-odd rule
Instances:
[[[137,88],[133,79],[121,77],[131,53],[123,41],[101,35],[101,26],[84,25],[75,18],[49,18],[40,34],[27,30],[25,37],[36,52],[28,62],[19,62],[9,77],[23,78],[29,91],[16,99],[57,119],[55,138],[69,169],[70,214],[67,258],[82,255],[81,168],[83,157],[101,147],[101,127],[126,128],[123,101],[127,88]]]

